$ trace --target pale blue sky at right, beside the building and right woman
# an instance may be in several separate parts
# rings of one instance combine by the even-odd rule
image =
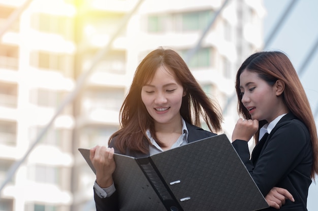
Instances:
[[[267,10],[264,22],[265,40],[292,2],[293,0],[264,0],[264,6]],[[300,80],[318,126],[318,48],[316,47],[318,43],[318,1],[298,0],[295,2],[289,15],[282,22],[272,42],[265,50],[281,50],[289,56],[299,72]],[[310,54],[313,47],[316,47],[316,50]],[[309,55],[311,59],[305,63]],[[301,71],[304,64],[306,64],[305,68]],[[309,188],[308,211],[315,211],[318,207],[316,200],[318,198],[318,182],[316,183],[313,183]]]

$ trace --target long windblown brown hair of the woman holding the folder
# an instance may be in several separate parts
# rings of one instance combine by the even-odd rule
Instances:
[[[150,140],[146,136],[149,130],[157,140],[154,122],[141,99],[141,90],[151,80],[161,65],[168,68],[177,77],[186,95],[182,98],[180,114],[191,124],[201,126],[201,118],[205,120],[210,131],[221,130],[222,115],[218,105],[204,93],[183,59],[171,49],[159,48],[150,52],[138,65],[128,95],[120,108],[120,130],[109,139],[116,137],[116,148],[124,153],[125,149],[148,152]]]

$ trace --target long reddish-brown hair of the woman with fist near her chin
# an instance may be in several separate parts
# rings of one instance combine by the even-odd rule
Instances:
[[[282,52],[258,52],[249,56],[241,65],[236,75],[236,93],[238,96],[238,113],[246,119],[251,119],[248,110],[243,106],[240,95],[240,75],[245,70],[258,73],[258,75],[273,85],[276,80],[282,80],[285,83],[283,100],[289,110],[300,119],[308,128],[313,148],[313,165],[311,178],[318,174],[318,138],[317,131],[307,99],[305,90],[299,80],[297,72],[290,59]],[[260,128],[267,123],[266,120],[260,121],[258,133],[255,135],[257,142]]]

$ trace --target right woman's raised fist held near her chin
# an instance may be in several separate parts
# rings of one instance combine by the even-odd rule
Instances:
[[[232,134],[232,142],[239,139],[249,141],[259,129],[259,121],[257,119],[239,118],[235,124]]]

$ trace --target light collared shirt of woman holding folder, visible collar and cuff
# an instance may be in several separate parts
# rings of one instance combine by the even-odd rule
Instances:
[[[183,146],[186,145],[188,143],[187,139],[188,139],[188,130],[186,128],[186,124],[184,119],[181,117],[181,122],[182,122],[182,134],[180,135],[180,137],[178,138],[178,140],[172,145],[171,149],[179,147],[179,146]],[[152,143],[152,145],[149,144],[149,154],[150,155],[154,155],[160,152],[163,152],[164,150],[154,141],[154,139],[152,138],[150,131],[147,130],[146,131],[146,135],[147,137],[150,139],[150,142]],[[101,188],[97,182],[95,181],[94,183],[94,189],[96,194],[100,197],[100,198],[106,198],[107,196],[111,196],[115,191],[116,188],[114,186],[114,183],[108,187],[108,188]]]

